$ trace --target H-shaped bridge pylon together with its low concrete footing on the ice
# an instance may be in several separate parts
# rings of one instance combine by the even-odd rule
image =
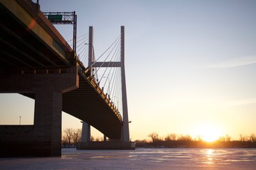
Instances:
[[[125,69],[124,69],[124,26],[121,26],[121,61],[115,62],[112,64],[111,62],[95,62],[95,54],[94,54],[94,46],[93,46],[93,28],[89,27],[89,52],[88,52],[88,65],[90,67],[90,76],[93,76],[93,71],[97,67],[120,67],[121,69],[121,85],[122,85],[122,113],[123,113],[123,122],[122,122],[122,130],[121,130],[121,138],[119,141],[114,139],[110,139],[110,142],[106,142],[106,149],[134,149],[134,142],[130,141],[129,138],[129,118],[128,118],[128,107],[127,107],[127,89],[126,89],[126,79],[125,79]],[[82,142],[90,142],[90,125],[87,123],[83,123],[82,125]],[[110,143],[112,142],[112,146]],[[89,146],[90,145],[90,146]],[[99,147],[100,146],[100,147]],[[104,145],[102,143],[100,145],[97,144],[88,144],[84,145],[84,149],[102,149]],[[81,149],[81,148],[79,148]]]

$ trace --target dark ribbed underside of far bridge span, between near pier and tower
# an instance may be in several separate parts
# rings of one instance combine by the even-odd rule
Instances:
[[[121,121],[82,76],[79,77],[78,89],[63,94],[63,111],[92,125],[112,140],[121,139]]]

